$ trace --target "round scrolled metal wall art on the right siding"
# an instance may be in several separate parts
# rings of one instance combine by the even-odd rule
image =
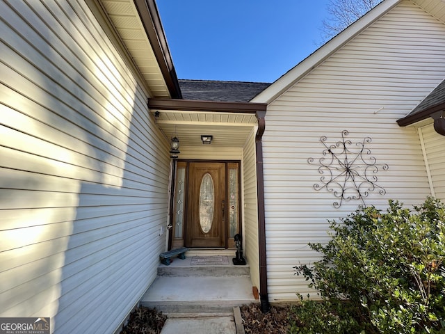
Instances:
[[[376,174],[380,168],[388,170],[389,167],[387,164],[378,165],[377,159],[371,156],[371,150],[365,148],[366,144],[371,143],[371,138],[365,137],[362,142],[353,143],[345,139],[348,134],[347,130],[343,130],[341,141],[329,146],[326,143],[327,137],[320,137],[320,142],[325,147],[323,157],[307,159],[309,164],[318,166],[318,173],[323,175],[320,178],[321,183],[316,183],[313,187],[316,191],[326,189],[333,193],[339,199],[332,203],[335,208],[350,200],[359,200],[359,207],[366,207],[364,198],[370,192],[378,191],[380,195],[385,195],[385,189],[376,183]]]

